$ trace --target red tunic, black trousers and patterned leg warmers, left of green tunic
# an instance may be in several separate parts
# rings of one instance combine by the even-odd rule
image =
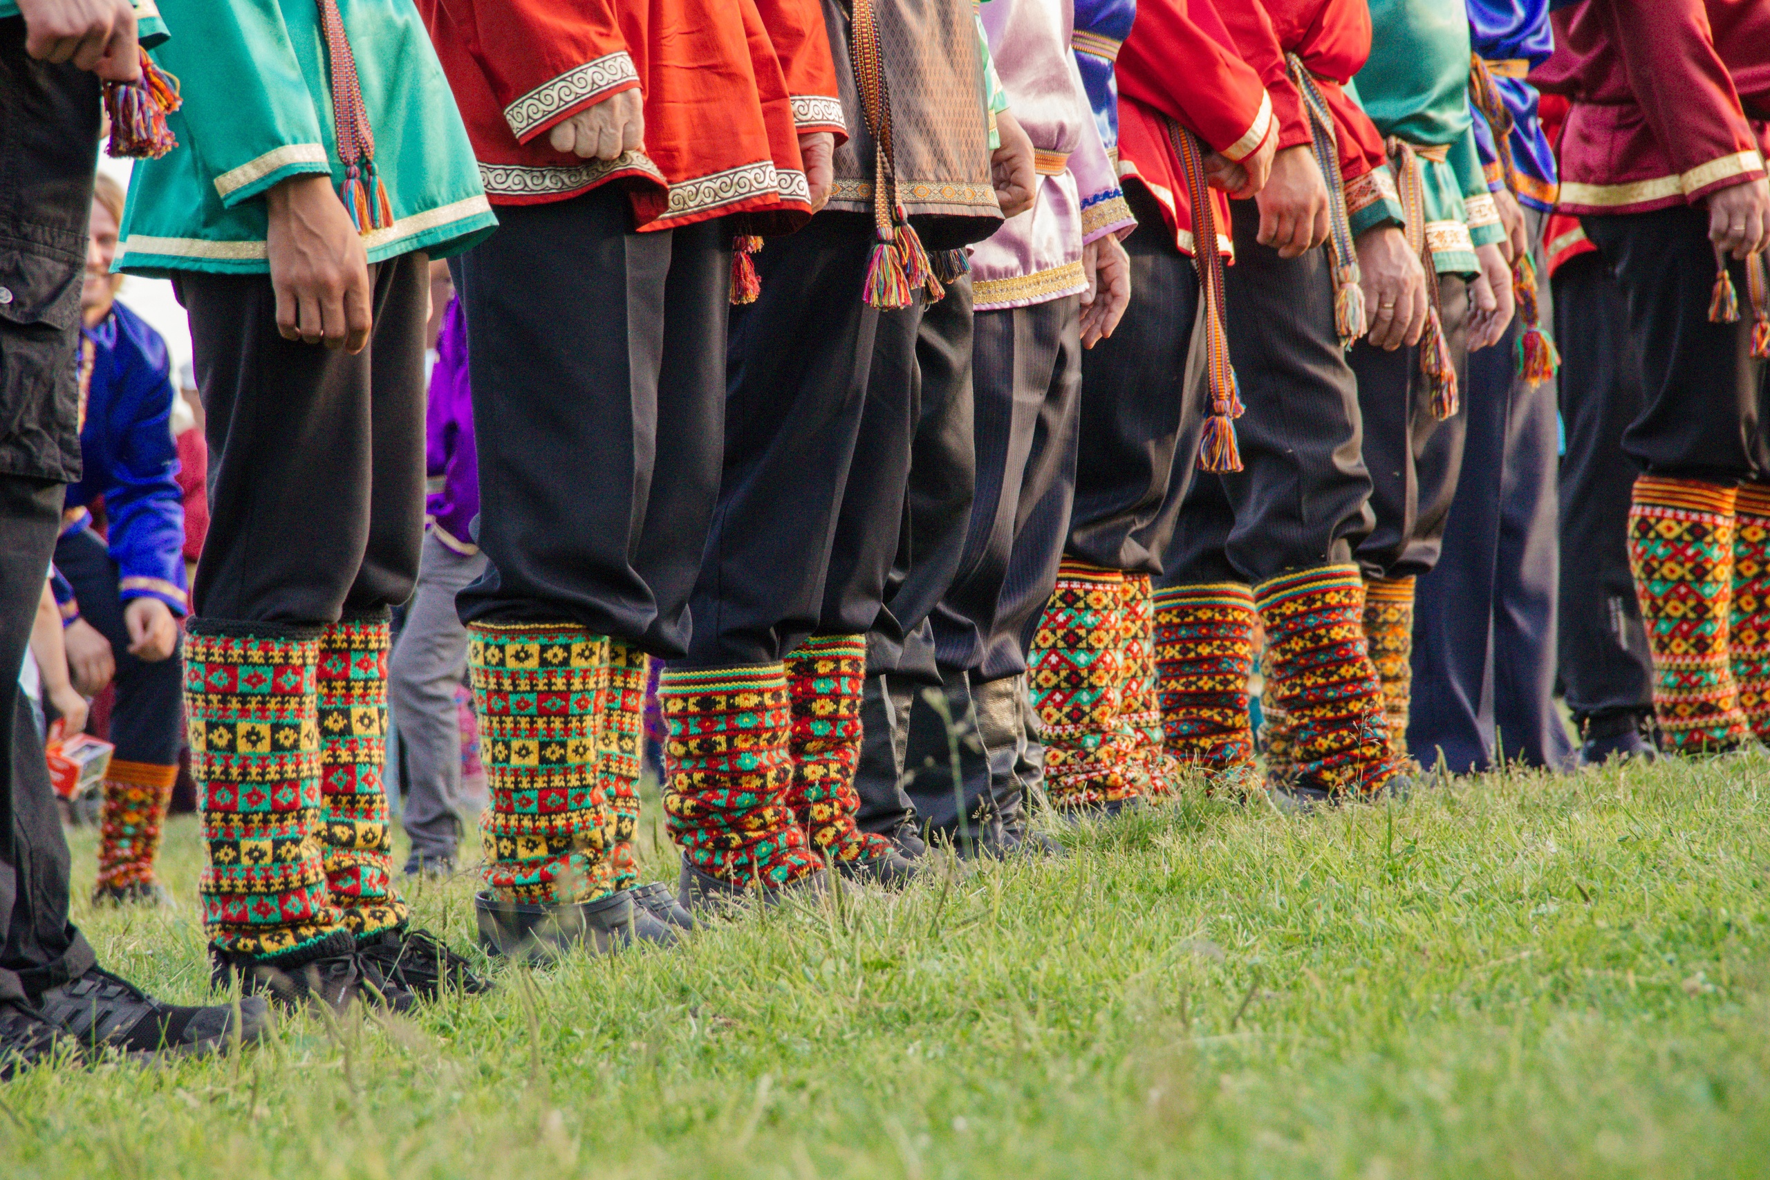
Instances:
[[[1289,720],[1273,787],[1304,798],[1382,791],[1400,773],[1375,667],[1359,644],[1352,545],[1370,531],[1370,476],[1345,349],[1363,334],[1351,214],[1400,223],[1388,154],[1345,94],[1370,51],[1363,4],[1225,5],[1243,57],[1273,96],[1280,149],[1312,145],[1333,237],[1299,258],[1257,241],[1255,202],[1232,202],[1228,354],[1246,414],[1243,471],[1200,474],[1156,589],[1156,667],[1166,750],[1207,789],[1257,785],[1248,716],[1255,623],[1267,635],[1266,695]],[[1356,198],[1352,207],[1349,198]]]

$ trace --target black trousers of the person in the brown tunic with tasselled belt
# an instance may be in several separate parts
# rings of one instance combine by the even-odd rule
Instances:
[[[756,257],[733,308],[719,508],[690,610],[692,667],[773,663],[812,633],[864,633],[897,554],[922,297],[862,301],[866,214],[820,212]]]

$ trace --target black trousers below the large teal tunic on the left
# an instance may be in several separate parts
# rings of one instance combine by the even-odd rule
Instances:
[[[209,437],[205,623],[333,623],[412,594],[425,534],[428,258],[372,269],[350,356],[276,333],[267,274],[184,271],[179,303]]]

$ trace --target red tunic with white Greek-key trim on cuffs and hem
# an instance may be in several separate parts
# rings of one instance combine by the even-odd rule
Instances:
[[[494,205],[625,179],[639,228],[811,211],[798,134],[846,134],[816,0],[418,0]],[[547,131],[641,88],[646,140],[620,159],[556,152]]]

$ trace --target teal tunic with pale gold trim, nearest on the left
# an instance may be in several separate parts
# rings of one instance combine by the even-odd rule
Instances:
[[[136,165],[117,271],[264,274],[264,191],[301,173],[345,179],[315,0],[158,0],[173,35],[154,60],[179,78],[179,147]],[[492,232],[473,147],[411,0],[338,0],[393,225],[370,262],[448,257]],[[181,30],[184,30],[181,34]]]

